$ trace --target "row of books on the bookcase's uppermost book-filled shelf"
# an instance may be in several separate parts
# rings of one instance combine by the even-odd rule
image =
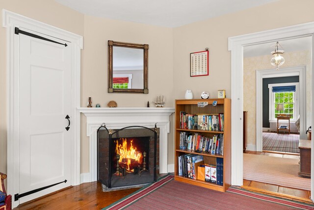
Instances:
[[[180,128],[187,130],[224,131],[224,114],[187,114],[180,112]]]

